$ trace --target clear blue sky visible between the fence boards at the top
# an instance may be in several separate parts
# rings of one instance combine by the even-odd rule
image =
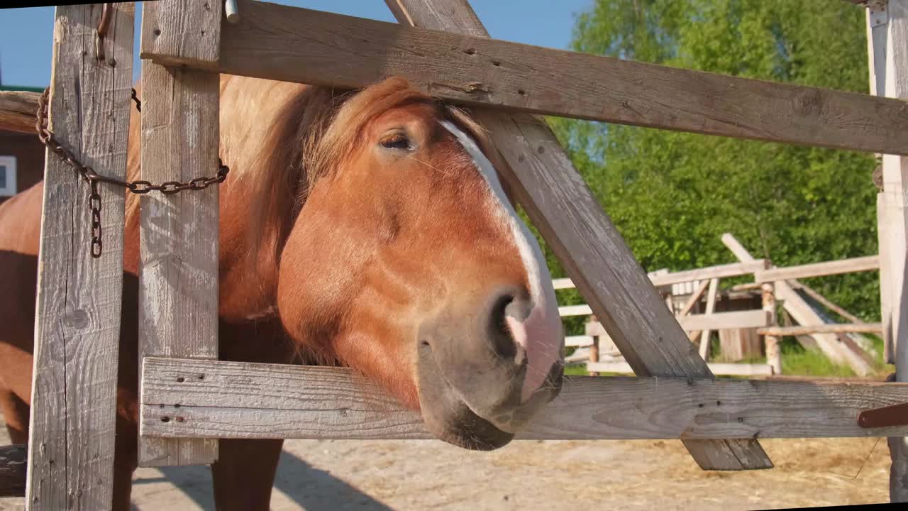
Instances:
[[[395,21],[381,0],[281,0],[275,3]],[[471,0],[470,5],[496,39],[567,48],[575,15],[589,9],[592,3],[593,0]],[[0,9],[0,72],[4,85],[43,87],[50,82],[53,30],[54,7]],[[136,30],[136,55],[138,49]],[[138,63],[134,69],[139,69]]]

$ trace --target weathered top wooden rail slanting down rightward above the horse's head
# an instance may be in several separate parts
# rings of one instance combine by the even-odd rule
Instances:
[[[153,53],[164,65],[359,88],[406,76],[469,105],[678,131],[908,154],[898,99],[716,75],[666,65],[405,27],[239,0],[222,28],[221,58]]]

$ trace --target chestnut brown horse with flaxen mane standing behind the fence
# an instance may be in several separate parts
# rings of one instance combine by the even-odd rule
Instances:
[[[133,179],[139,125],[133,112]],[[341,95],[223,75],[221,156],[222,359],[350,366],[470,449],[506,445],[558,395],[545,259],[498,179],[504,164],[459,109],[397,78]],[[42,195],[38,184],[0,206],[0,409],[15,443],[27,441]],[[138,418],[139,201],[127,201],[118,509]],[[222,440],[219,509],[268,508],[281,442]]]

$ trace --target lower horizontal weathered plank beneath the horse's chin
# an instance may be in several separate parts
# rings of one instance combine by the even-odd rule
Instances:
[[[143,435],[431,437],[417,413],[346,368],[149,358],[143,386]],[[884,436],[908,426],[864,429],[857,414],[906,400],[908,385],[880,382],[573,376],[518,438]]]

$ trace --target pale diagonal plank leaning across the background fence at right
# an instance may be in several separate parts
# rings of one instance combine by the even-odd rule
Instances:
[[[739,260],[746,262],[753,259],[745,247],[735,239],[735,236],[725,233],[722,235],[722,243]],[[804,298],[798,295],[785,281],[777,281],[774,286],[775,298],[783,301],[785,311],[799,325],[821,325],[824,323],[823,318],[817,315],[816,311],[804,301]],[[864,359],[863,352],[854,351],[854,346],[843,343],[837,336],[832,334],[812,334],[811,338],[816,341],[816,346],[823,351],[825,356],[837,364],[850,366],[858,376],[868,375],[873,372],[873,367]]]

